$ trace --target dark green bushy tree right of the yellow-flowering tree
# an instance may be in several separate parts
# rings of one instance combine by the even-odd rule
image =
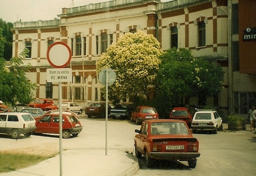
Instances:
[[[195,97],[201,92],[212,96],[221,91],[223,69],[205,58],[194,58],[190,50],[172,48],[160,59],[157,96],[165,116],[171,107],[182,103],[183,97]]]

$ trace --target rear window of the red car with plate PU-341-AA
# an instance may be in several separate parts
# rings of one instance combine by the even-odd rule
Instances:
[[[151,124],[151,135],[189,135],[183,122],[156,122]]]

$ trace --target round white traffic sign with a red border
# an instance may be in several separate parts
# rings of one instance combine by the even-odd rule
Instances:
[[[55,68],[64,68],[70,63],[71,49],[64,42],[52,43],[47,49],[47,60]]]

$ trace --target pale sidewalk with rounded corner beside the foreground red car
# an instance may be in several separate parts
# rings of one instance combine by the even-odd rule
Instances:
[[[47,159],[31,167],[0,176],[132,176],[139,169],[135,156],[124,151],[110,149],[65,150],[62,152],[62,175],[60,156]]]

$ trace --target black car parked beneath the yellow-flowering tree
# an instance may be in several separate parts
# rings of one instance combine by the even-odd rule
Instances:
[[[132,104],[116,104],[116,106],[110,110],[110,116],[113,119],[130,119],[133,110],[134,107]]]

